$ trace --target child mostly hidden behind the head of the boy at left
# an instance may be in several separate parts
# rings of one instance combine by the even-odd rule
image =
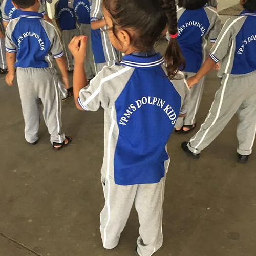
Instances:
[[[19,17],[20,10],[17,10],[12,3],[12,0],[4,0],[1,5],[1,12],[3,17],[3,25],[6,29],[10,20]],[[46,14],[46,10],[44,9],[44,5],[40,2],[40,8],[38,10],[39,13],[44,15],[44,19],[51,21],[48,15]]]

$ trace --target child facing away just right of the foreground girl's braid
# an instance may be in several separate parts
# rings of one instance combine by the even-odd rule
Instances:
[[[180,44],[186,60],[185,78],[194,76],[206,58],[208,38],[214,43],[221,31],[221,20],[214,8],[206,6],[207,0],[179,0],[177,10]],[[169,39],[167,35],[167,39]],[[189,133],[196,127],[198,111],[204,88],[204,79],[191,89],[191,101],[186,117],[179,118],[176,133]]]

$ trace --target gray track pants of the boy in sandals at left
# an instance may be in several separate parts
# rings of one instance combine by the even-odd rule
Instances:
[[[61,143],[61,100],[58,77],[52,68],[17,68],[17,81],[25,121],[25,138],[33,143],[38,140],[40,106],[51,142]]]

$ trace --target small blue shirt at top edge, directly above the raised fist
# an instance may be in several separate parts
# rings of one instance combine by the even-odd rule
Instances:
[[[78,22],[90,24],[90,2],[88,0],[74,0],[73,7]]]

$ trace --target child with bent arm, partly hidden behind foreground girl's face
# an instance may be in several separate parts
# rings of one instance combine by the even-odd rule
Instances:
[[[106,21],[102,13],[102,0],[92,0],[91,5],[92,49],[97,72],[103,67],[119,62],[120,56],[111,45]]]

